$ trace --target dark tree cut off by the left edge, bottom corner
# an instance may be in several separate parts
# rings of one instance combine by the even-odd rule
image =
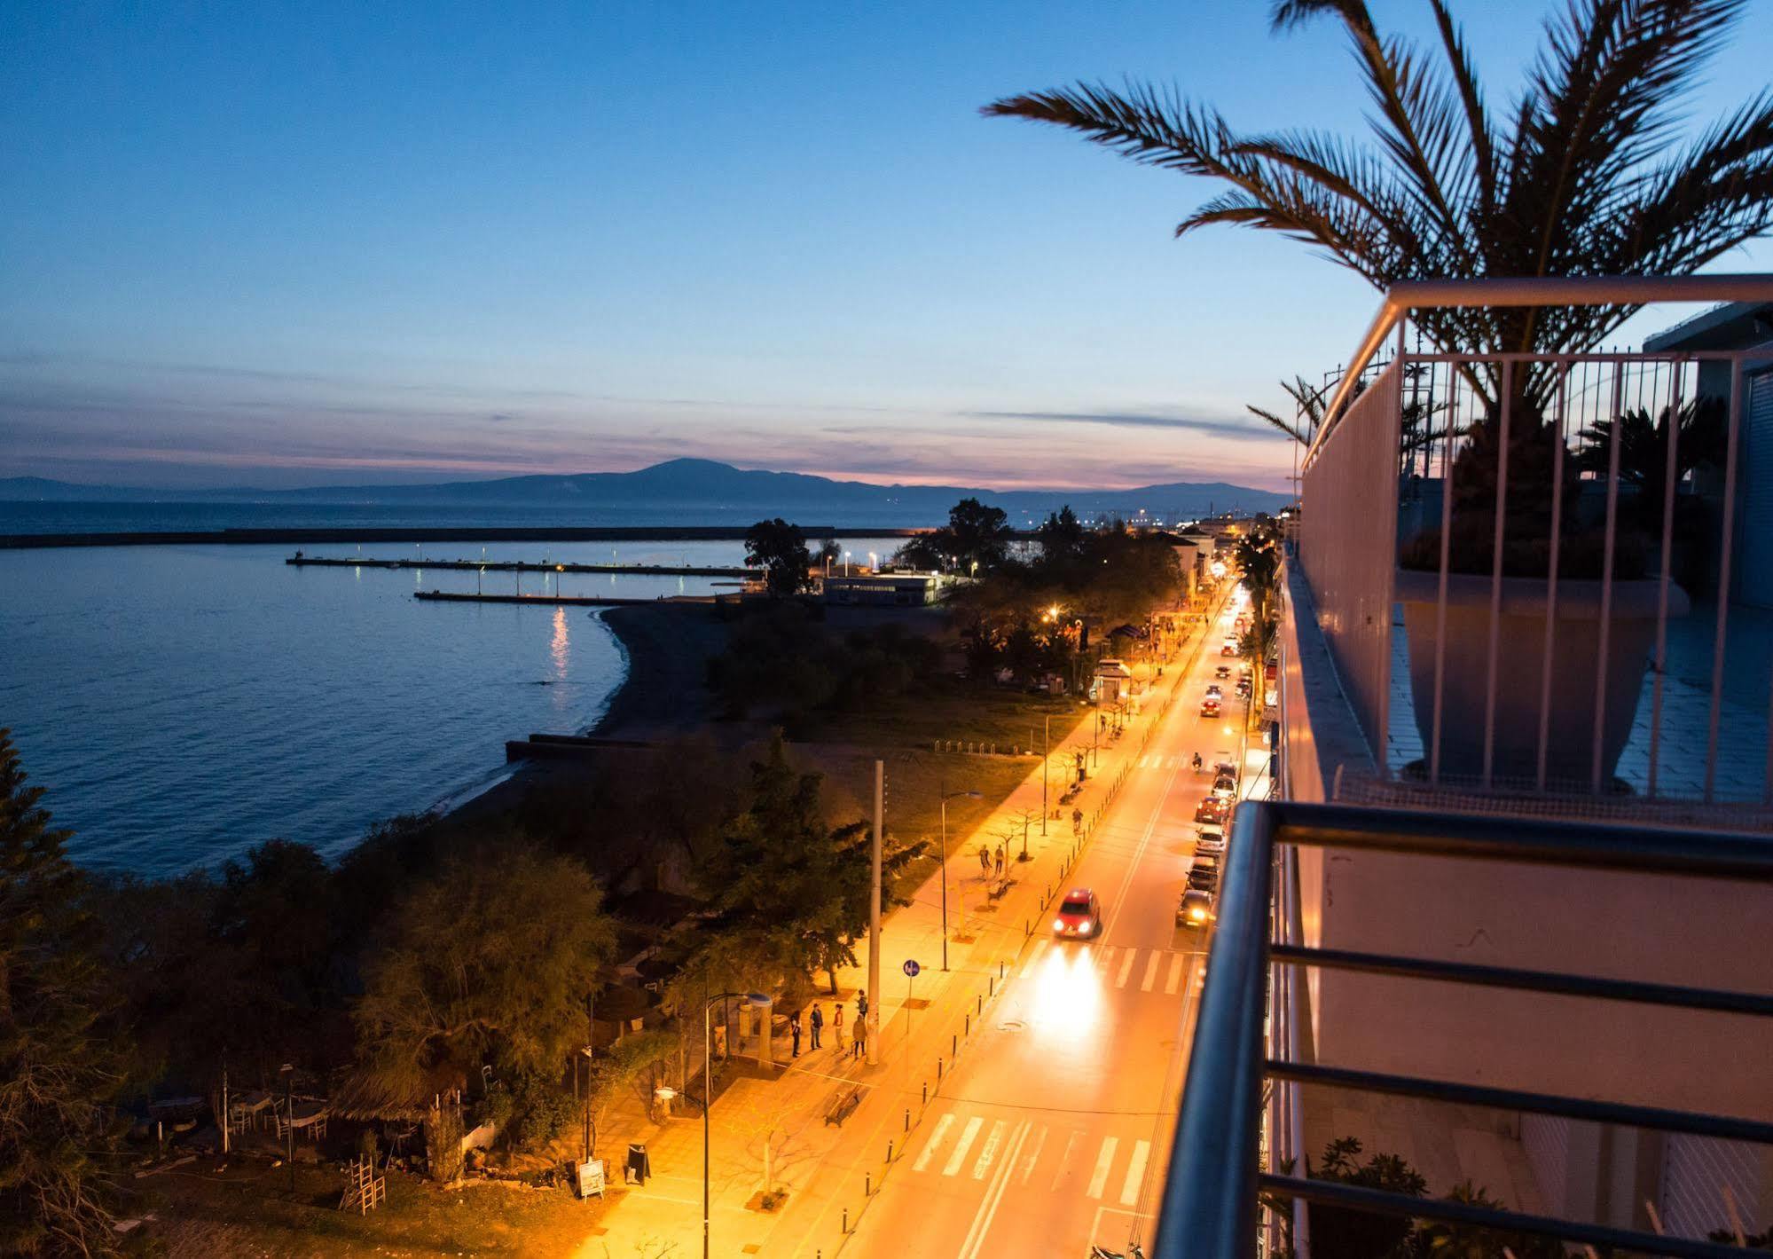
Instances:
[[[122,1080],[98,924],[0,729],[0,1252],[113,1254],[108,1185],[89,1151]]]

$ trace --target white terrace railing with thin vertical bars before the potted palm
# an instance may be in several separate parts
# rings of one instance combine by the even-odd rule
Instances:
[[[1745,371],[1773,351],[1404,348],[1424,307],[1730,300],[1773,301],[1773,277],[1386,294],[1303,457],[1298,525],[1300,567],[1381,784],[1629,794],[1651,816],[1686,809],[1681,825],[1773,826],[1773,684],[1729,663],[1766,638],[1730,638],[1729,596]]]

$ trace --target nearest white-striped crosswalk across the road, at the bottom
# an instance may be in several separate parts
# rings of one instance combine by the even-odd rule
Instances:
[[[1011,1165],[1004,1167],[1005,1161]],[[1151,1140],[1145,1137],[952,1110],[936,1117],[911,1158],[913,1174],[956,1183],[1007,1177],[1039,1185],[1048,1193],[1082,1190],[1094,1202],[1128,1208],[1138,1202],[1149,1167]]]

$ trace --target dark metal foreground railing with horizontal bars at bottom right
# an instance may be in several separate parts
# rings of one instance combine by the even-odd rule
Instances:
[[[1773,848],[1734,835],[1691,830],[1672,833],[1567,821],[1523,826],[1512,819],[1461,817],[1443,812],[1245,802],[1238,809],[1225,860],[1218,927],[1200,993],[1183,1110],[1170,1158],[1172,1170],[1158,1220],[1152,1252],[1156,1257],[1248,1259],[1259,1254],[1259,1234],[1264,1225],[1280,1231],[1277,1200],[1291,1200],[1294,1208],[1298,1202],[1323,1202],[1417,1220],[1535,1232],[1569,1245],[1612,1247],[1633,1254],[1688,1259],[1732,1259],[1743,1254],[1739,1248],[1690,1238],[1498,1211],[1445,1199],[1406,1197],[1273,1170],[1303,1167],[1298,1103],[1301,1083],[1773,1144],[1773,1124],[1730,1115],[1464,1085],[1301,1060],[1298,1028],[1287,1013],[1294,1004],[1293,984],[1298,972],[1307,966],[1755,1018],[1773,1018],[1773,997],[1305,947],[1300,943],[1298,890],[1291,874],[1291,853],[1300,846],[1773,883]],[[1278,888],[1273,887],[1277,871]],[[1269,982],[1271,966],[1273,982]],[[1401,1011],[1408,1007],[1401,1005]],[[1262,1169],[1264,1098],[1269,1170]],[[1307,1216],[1294,1209],[1293,1218],[1294,1254],[1298,1259],[1308,1259]]]

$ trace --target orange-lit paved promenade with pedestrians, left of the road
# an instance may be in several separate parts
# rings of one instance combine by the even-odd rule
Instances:
[[[824,1259],[846,1241],[855,1241],[867,1209],[886,1177],[926,1142],[929,1130],[947,1128],[940,1108],[950,1098],[957,1069],[975,1053],[975,1043],[998,1023],[1016,1023],[1027,1004],[1032,958],[1046,949],[1051,904],[1069,887],[1069,878],[1083,878],[1080,862],[1089,862],[1090,876],[1108,871],[1126,894],[1133,871],[1151,846],[1154,817],[1145,817],[1154,802],[1170,796],[1179,752],[1154,755],[1154,739],[1163,734],[1177,741],[1179,723],[1191,706],[1172,708],[1181,688],[1195,684],[1206,669],[1204,642],[1211,626],[1190,626],[1177,656],[1165,663],[1165,677],[1154,683],[1142,713],[1133,716],[1119,739],[1099,750],[1097,766],[1076,805],[1085,814],[1085,828],[1073,833],[1071,805],[1046,819],[1046,835],[1030,833],[1028,862],[1011,855],[1009,888],[1002,897],[988,897],[988,880],[979,872],[977,849],[996,844],[1009,819],[1019,810],[1041,807],[1041,762],[1028,777],[970,833],[950,844],[941,871],[917,890],[911,903],[890,913],[881,924],[883,991],[871,993],[881,1016],[878,1064],[851,1057],[849,1034],[855,1023],[855,997],[867,984],[867,942],[856,949],[858,965],[839,972],[839,995],[821,991],[824,1009],[824,1046],[801,1055],[777,1078],[741,1076],[715,1099],[709,1114],[711,1142],[711,1255],[796,1255]],[[1181,667],[1179,667],[1181,665]],[[1193,665],[1193,667],[1190,667]],[[1188,699],[1188,695],[1184,695]],[[1071,755],[1089,747],[1085,725],[1053,747],[1050,782],[1066,778]],[[1215,731],[1218,725],[1215,725]],[[1090,731],[1092,732],[1092,731]],[[1142,768],[1168,766],[1167,773],[1140,775]],[[1138,802],[1122,807],[1121,793],[1138,782]],[[1142,835],[1129,842],[1129,835]],[[1165,844],[1158,844],[1163,848]],[[1174,844],[1167,846],[1167,851]],[[1106,865],[1105,865],[1106,864]],[[1097,869],[1099,867],[1099,869]],[[947,880],[949,970],[941,970],[941,880]],[[1110,913],[1110,903],[1105,913]],[[918,963],[918,975],[908,981],[904,963]],[[1168,974],[1152,963],[1147,982],[1163,995],[1188,1000],[1197,981],[1197,959],[1175,954]],[[1186,979],[1186,991],[1184,988]],[[1023,995],[1014,995],[1018,982]],[[1037,981],[1035,981],[1037,982]],[[1136,986],[1136,977],[1135,977]],[[833,1036],[832,1005],[844,1004],[842,1036]],[[1005,1007],[1005,1000],[1011,1007]],[[805,1018],[803,1018],[805,1023]],[[1174,1028],[1165,1044],[1174,1046]],[[778,1055],[787,1053],[785,1039],[777,1039]],[[1101,1053],[1108,1057],[1106,1052]],[[1179,1087],[1179,1078],[1177,1078]],[[828,1115],[840,1099],[856,1091],[855,1108],[840,1124]],[[934,1115],[926,1122],[926,1114]],[[977,1128],[977,1124],[975,1124]],[[700,1250],[702,1229],[702,1122],[700,1112],[679,1103],[679,1114],[665,1122],[649,1122],[635,1105],[608,1124],[610,1138],[601,1153],[610,1167],[610,1197],[596,1224],[587,1231],[576,1255],[691,1255]],[[644,1140],[652,1165],[645,1186],[624,1186],[621,1154],[628,1140]],[[995,1147],[995,1138],[986,1146]],[[975,1154],[989,1161],[980,1146]],[[927,1160],[926,1160],[927,1161]],[[968,1160],[970,1161],[970,1160]],[[768,1169],[768,1172],[766,1172]],[[1152,1163],[1156,1172],[1156,1163]],[[761,1192],[785,1193],[775,1211],[761,1209]]]

